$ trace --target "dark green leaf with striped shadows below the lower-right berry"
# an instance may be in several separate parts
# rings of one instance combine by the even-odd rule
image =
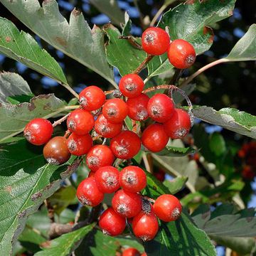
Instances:
[[[216,255],[206,233],[197,228],[185,213],[175,222],[161,222],[159,233],[154,240],[145,243],[145,251],[148,256]]]

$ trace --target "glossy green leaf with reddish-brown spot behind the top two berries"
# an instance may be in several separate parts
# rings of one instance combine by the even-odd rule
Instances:
[[[210,26],[232,15],[234,5],[235,0],[186,1],[167,11],[158,26],[167,26],[172,41],[184,39],[192,43],[196,53],[200,54],[213,44],[213,30]],[[171,68],[174,67],[169,63],[166,54],[155,56],[148,65],[149,78]]]

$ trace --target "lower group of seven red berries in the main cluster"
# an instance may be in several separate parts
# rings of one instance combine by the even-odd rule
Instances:
[[[119,189],[121,187],[121,189]],[[139,192],[146,187],[146,174],[137,166],[127,166],[118,171],[113,166],[103,166],[91,172],[78,186],[79,201],[87,206],[97,206],[105,193],[114,193],[112,207],[100,216],[99,225],[106,235],[120,235],[127,221],[137,238],[152,240],[159,230],[160,220],[176,220],[181,215],[181,203],[171,195],[162,195],[154,205]]]

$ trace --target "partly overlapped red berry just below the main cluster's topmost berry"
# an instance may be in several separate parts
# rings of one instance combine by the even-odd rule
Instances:
[[[147,112],[147,104],[149,96],[141,93],[137,97],[129,98],[127,100],[128,116],[135,121],[144,121],[149,117]]]

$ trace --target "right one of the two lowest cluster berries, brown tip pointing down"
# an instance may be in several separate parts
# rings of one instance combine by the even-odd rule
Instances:
[[[150,213],[141,211],[135,216],[132,220],[132,230],[134,235],[144,242],[152,240],[159,230],[159,223],[153,211]]]

